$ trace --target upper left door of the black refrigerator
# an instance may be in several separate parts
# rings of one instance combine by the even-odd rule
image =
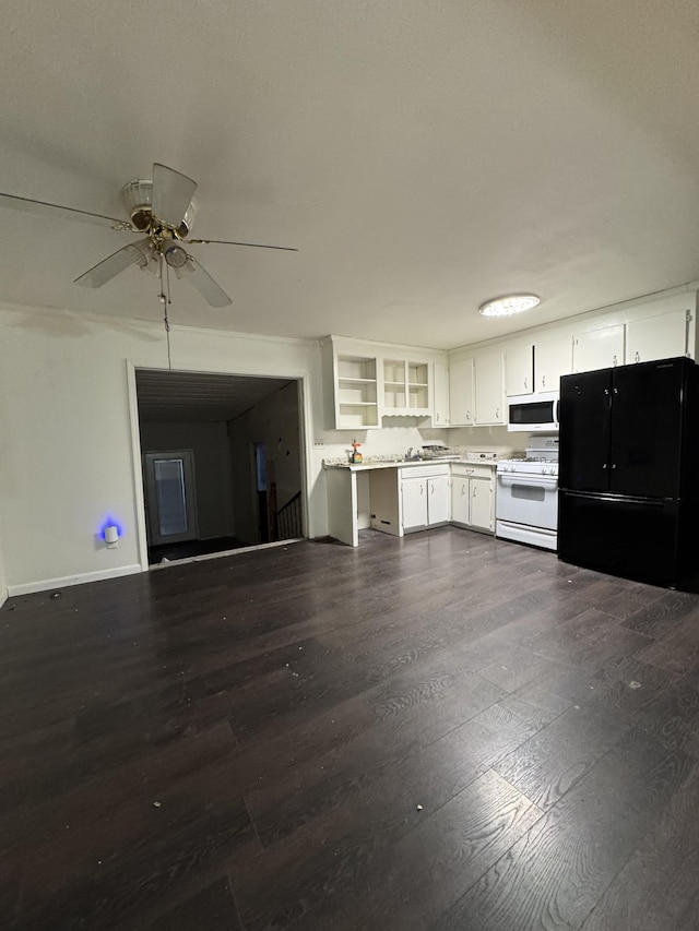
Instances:
[[[609,487],[612,369],[560,380],[559,485],[574,491]]]

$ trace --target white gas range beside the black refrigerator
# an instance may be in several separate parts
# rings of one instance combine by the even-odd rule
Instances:
[[[530,438],[525,458],[502,459],[496,470],[496,537],[555,550],[558,437]]]

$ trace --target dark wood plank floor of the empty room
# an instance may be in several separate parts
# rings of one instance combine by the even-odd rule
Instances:
[[[696,931],[699,597],[455,528],[0,611],[5,928]]]

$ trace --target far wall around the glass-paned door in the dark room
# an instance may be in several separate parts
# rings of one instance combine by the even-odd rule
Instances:
[[[234,535],[233,474],[225,421],[142,422],[141,450],[144,453],[191,450],[199,539]]]

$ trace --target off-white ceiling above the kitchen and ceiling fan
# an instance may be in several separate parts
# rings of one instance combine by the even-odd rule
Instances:
[[[199,181],[174,324],[440,348],[699,278],[696,0],[7,0],[0,190]],[[0,211],[0,299],[157,320],[123,234]],[[512,289],[540,308],[476,313]]]

